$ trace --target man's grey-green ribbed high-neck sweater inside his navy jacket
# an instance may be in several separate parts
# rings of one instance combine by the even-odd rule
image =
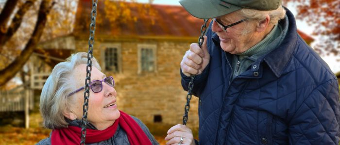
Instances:
[[[234,77],[245,72],[256,59],[268,54],[282,43],[288,31],[288,17],[286,19],[286,27],[275,25],[272,31],[259,43],[249,48],[245,52],[233,55],[232,67],[234,69]]]

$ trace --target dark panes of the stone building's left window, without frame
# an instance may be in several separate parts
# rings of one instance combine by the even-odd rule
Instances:
[[[112,72],[119,72],[118,67],[118,49],[106,48],[105,49],[105,70]]]

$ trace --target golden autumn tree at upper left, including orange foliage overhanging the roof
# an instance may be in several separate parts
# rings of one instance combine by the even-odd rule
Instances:
[[[91,0],[87,2],[89,1]],[[119,28],[119,25],[136,22],[137,17],[155,16],[156,11],[150,5],[152,1],[149,0],[147,4],[136,3],[136,0],[99,1],[100,5],[104,5],[104,14],[97,15],[96,25],[103,28],[102,21],[106,20],[112,28]],[[6,1],[0,14],[0,24],[2,24],[0,25],[0,86],[22,69],[33,52],[45,53],[42,48],[37,47],[39,42],[72,33],[77,3],[78,0]],[[132,9],[138,16],[132,14]],[[88,18],[89,14],[82,14],[80,20],[85,21]],[[154,19],[150,22],[153,25]],[[81,26],[75,27],[83,29],[79,28]],[[119,29],[115,29],[115,32],[119,33]],[[45,55],[48,56],[46,53]]]

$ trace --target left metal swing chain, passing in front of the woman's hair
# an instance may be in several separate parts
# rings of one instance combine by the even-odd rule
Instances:
[[[97,3],[98,3],[98,0],[92,0],[90,38],[88,39],[87,66],[86,66],[82,132],[81,132],[80,145],[85,145],[85,137],[86,137],[88,99],[90,98],[90,82],[91,82],[91,71],[92,71],[94,32],[96,30]]]

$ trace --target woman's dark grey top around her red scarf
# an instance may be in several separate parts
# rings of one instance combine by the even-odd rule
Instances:
[[[153,135],[150,133],[149,129],[142,123],[142,121],[140,121],[135,116],[131,116],[131,117],[134,118],[137,124],[140,126],[140,128],[142,128],[142,130],[144,131],[146,136],[148,136],[151,143],[153,145],[159,145],[156,139],[154,139]],[[70,122],[69,125],[81,127],[81,121],[82,120],[75,120],[75,121]],[[87,128],[96,130],[96,128],[90,123],[88,123]],[[50,133],[50,137],[41,140],[36,145],[51,145],[51,133]],[[120,126],[118,125],[115,135],[113,135],[108,140],[105,140],[99,143],[94,143],[94,144],[86,144],[86,145],[130,145],[130,143],[129,143],[126,132],[122,128],[120,128]]]

